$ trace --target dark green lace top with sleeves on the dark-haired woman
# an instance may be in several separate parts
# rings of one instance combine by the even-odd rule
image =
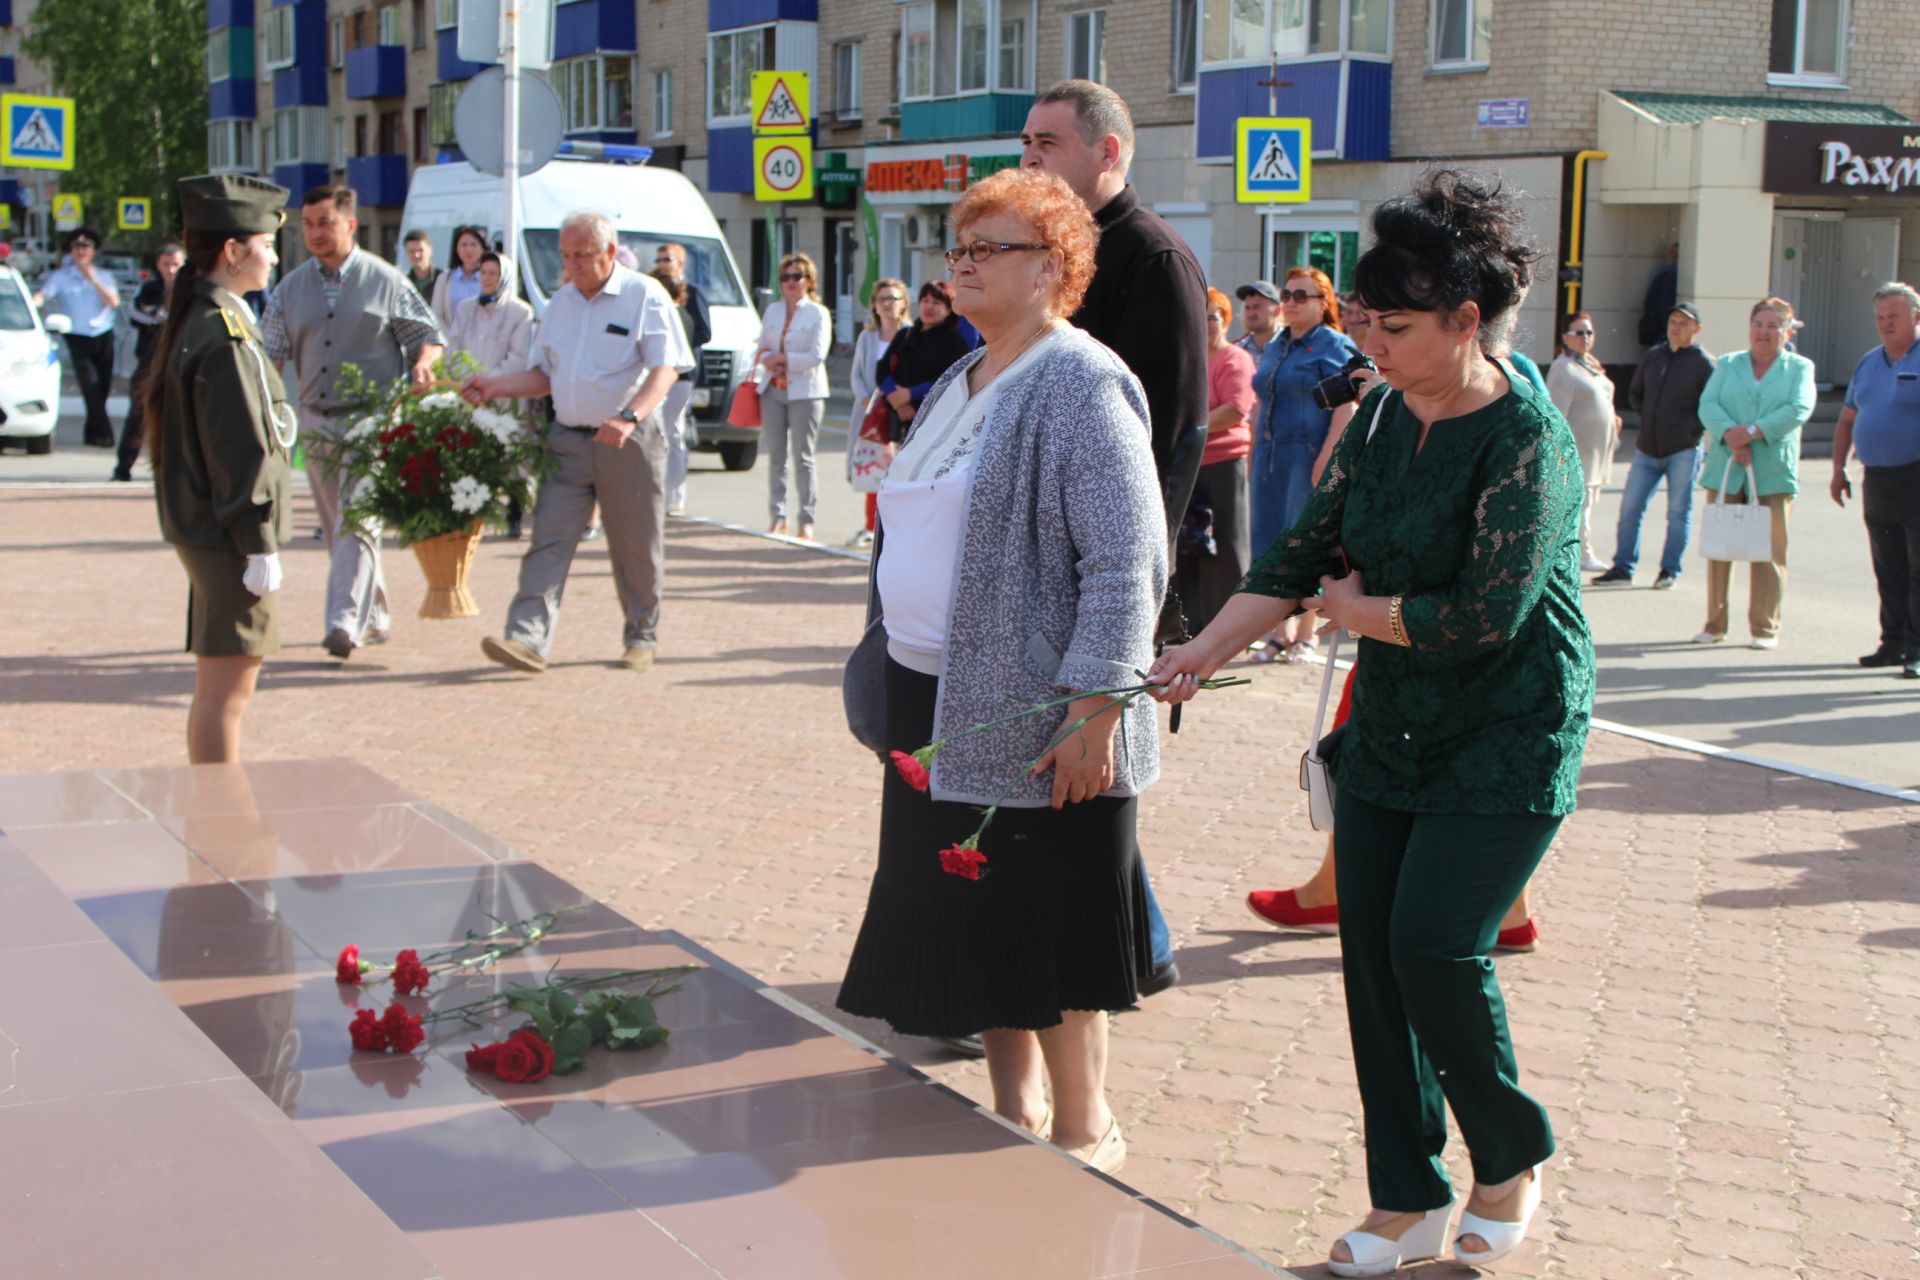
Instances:
[[[1569,814],[1594,714],[1572,428],[1513,378],[1415,453],[1419,430],[1398,391],[1369,395],[1240,589],[1319,595],[1344,547],[1369,595],[1405,597],[1411,649],[1359,641],[1340,787],[1407,812]]]

